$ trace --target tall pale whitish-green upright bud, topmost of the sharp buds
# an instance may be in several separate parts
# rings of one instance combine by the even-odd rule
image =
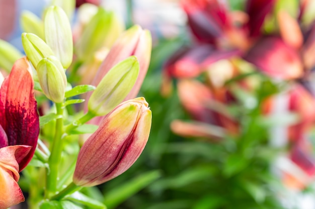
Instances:
[[[57,6],[48,8],[45,20],[45,39],[64,68],[72,63],[73,41],[71,26],[67,15]]]

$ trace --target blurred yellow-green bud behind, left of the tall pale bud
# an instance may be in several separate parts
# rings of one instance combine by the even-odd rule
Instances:
[[[23,11],[20,20],[23,32],[36,34],[39,38],[45,39],[44,23],[40,18],[29,11]]]

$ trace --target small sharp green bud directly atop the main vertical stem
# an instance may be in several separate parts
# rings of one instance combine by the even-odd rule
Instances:
[[[64,99],[67,78],[60,61],[53,56],[42,59],[37,65],[39,84],[48,99],[60,103]]]

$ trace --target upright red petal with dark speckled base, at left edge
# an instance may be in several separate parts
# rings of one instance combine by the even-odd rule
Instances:
[[[0,125],[7,133],[9,145],[32,146],[29,154],[18,161],[20,171],[33,157],[39,135],[37,103],[30,70],[27,58],[19,59],[0,89]]]

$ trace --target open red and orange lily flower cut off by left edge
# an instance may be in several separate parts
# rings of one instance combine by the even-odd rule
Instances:
[[[31,66],[21,58],[0,89],[0,208],[24,201],[17,181],[34,155],[38,134]]]

